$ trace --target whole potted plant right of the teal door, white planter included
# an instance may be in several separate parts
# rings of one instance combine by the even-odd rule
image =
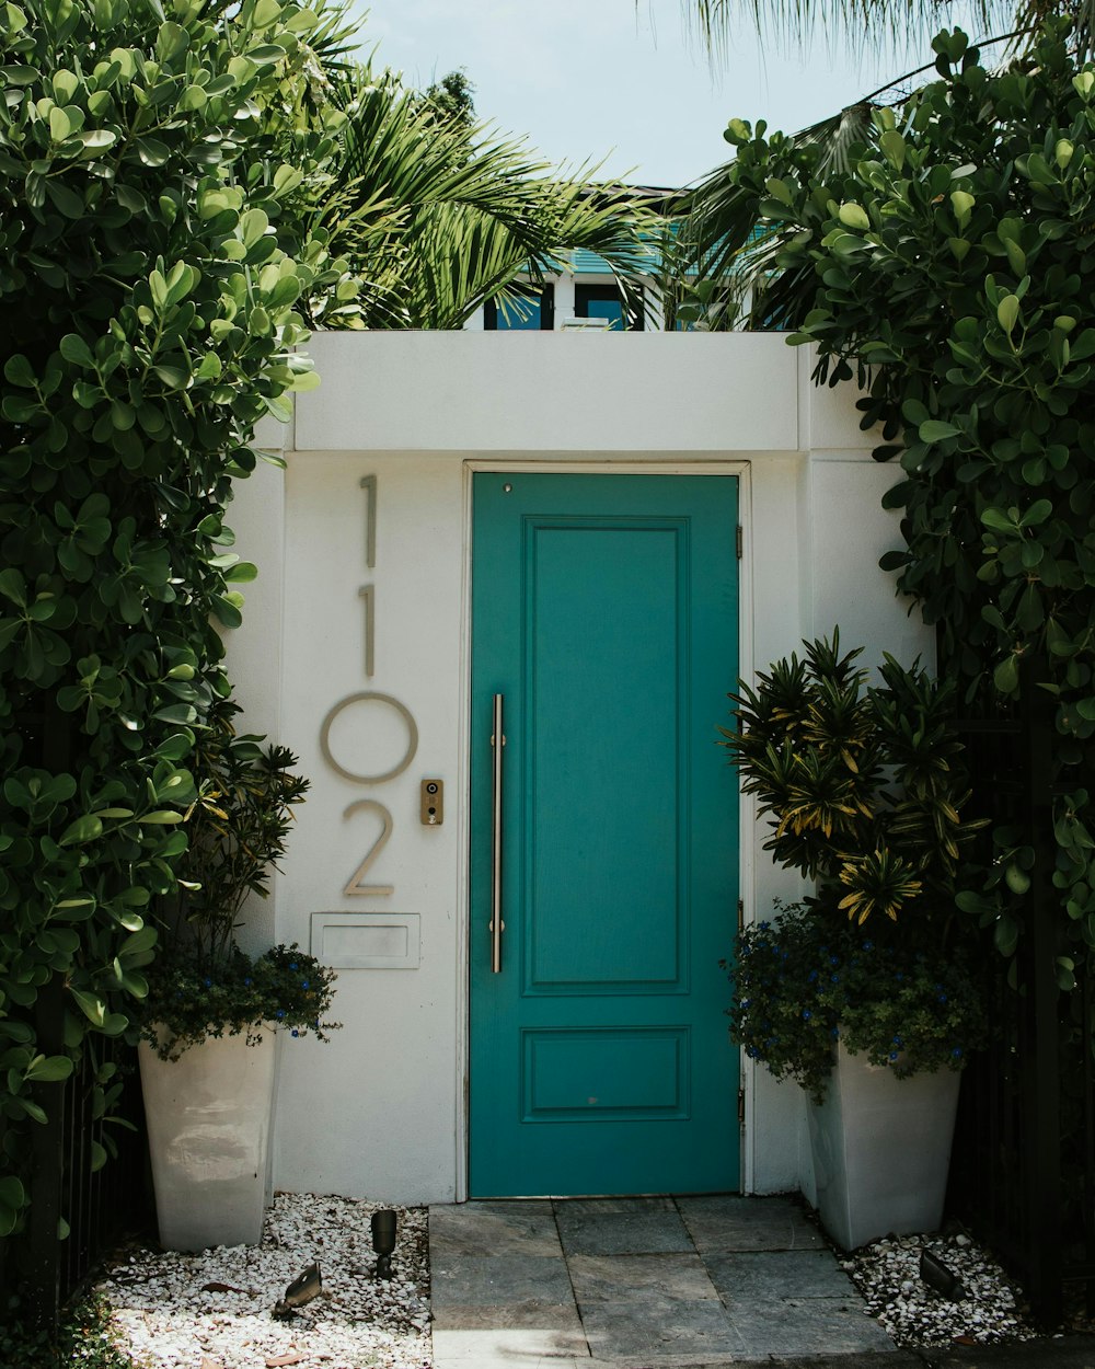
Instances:
[[[965,816],[953,686],[839,632],[742,686],[721,730],[765,842],[814,893],[739,932],[731,1035],[806,1090],[819,1210],[846,1249],[942,1216],[959,1071],[985,1035],[955,902]],[[888,1129],[884,1132],[883,1128]]]

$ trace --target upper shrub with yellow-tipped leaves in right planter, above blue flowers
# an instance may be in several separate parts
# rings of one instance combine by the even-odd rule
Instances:
[[[887,917],[906,943],[949,935],[970,819],[969,772],[954,731],[954,686],[887,656],[868,687],[862,648],[840,634],[803,642],[730,698],[720,728],[742,791],[768,819],[764,845],[817,882],[819,898],[860,924]]]

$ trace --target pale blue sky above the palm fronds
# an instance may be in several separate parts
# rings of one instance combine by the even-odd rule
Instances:
[[[743,18],[712,77],[679,0],[355,3],[368,10],[363,48],[379,44],[381,63],[411,85],[464,67],[480,118],[527,134],[549,162],[605,157],[605,177],[646,185],[686,185],[727,162],[731,118],[793,133],[932,59],[927,36],[913,51],[861,60],[824,40],[806,55],[762,51]]]

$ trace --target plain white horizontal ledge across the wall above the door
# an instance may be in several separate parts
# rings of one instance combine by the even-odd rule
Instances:
[[[308,350],[320,386],[297,401],[298,450],[799,446],[783,334],[318,333]]]

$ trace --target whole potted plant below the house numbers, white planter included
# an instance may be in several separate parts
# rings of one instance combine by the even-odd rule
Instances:
[[[252,1244],[270,1201],[276,1036],[327,1039],[334,975],[298,946],[246,954],[249,894],[268,894],[308,780],[296,757],[237,735],[231,700],[198,734],[181,897],[162,919],[141,1025],[160,1240],[172,1250]]]

